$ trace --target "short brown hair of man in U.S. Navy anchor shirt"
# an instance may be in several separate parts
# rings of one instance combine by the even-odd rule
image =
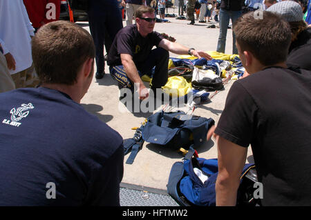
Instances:
[[[91,34],[69,21],[47,23],[32,38],[32,60],[42,83],[73,85],[82,64],[94,57]]]

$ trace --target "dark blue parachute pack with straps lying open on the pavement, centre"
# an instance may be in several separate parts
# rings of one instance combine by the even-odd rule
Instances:
[[[156,112],[147,118],[147,122],[138,128],[131,139],[124,140],[124,154],[131,152],[126,163],[133,163],[144,141],[156,143],[165,148],[198,148],[207,141],[207,132],[215,121],[177,112]]]

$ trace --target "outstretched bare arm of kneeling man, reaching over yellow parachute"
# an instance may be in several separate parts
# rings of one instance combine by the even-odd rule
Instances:
[[[174,54],[188,54],[189,48],[181,45],[180,43],[171,42],[167,39],[162,39],[160,41],[159,46],[161,48],[164,48],[165,50],[169,50],[170,52],[173,52]],[[200,59],[201,57],[204,57],[207,60],[211,60],[211,56],[207,54],[206,52],[199,51],[199,50],[191,50],[190,51],[192,55],[195,57],[198,57]]]

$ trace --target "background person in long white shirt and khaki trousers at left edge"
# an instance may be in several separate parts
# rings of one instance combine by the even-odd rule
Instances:
[[[0,30],[1,47],[15,88],[36,86],[30,44],[35,34],[22,0],[0,1]]]

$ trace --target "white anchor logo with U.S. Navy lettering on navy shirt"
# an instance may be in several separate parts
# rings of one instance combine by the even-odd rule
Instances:
[[[16,126],[19,127],[21,125],[20,121],[23,118],[26,118],[29,114],[29,109],[35,108],[34,106],[32,106],[32,103],[28,103],[28,104],[21,104],[21,107],[15,109],[12,108],[10,110],[10,114],[11,114],[11,121],[8,119],[3,119],[2,123],[6,123],[7,125],[10,126]]]

